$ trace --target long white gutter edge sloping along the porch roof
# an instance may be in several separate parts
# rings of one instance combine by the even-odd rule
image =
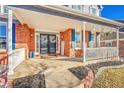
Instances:
[[[107,24],[112,24],[112,25],[116,25],[116,26],[124,26],[123,23],[120,22],[116,22],[107,18],[103,18],[103,17],[99,17],[99,16],[95,16],[95,15],[91,15],[88,13],[82,13],[80,11],[65,7],[65,6],[60,6],[60,5],[46,5],[46,6],[42,6],[42,7],[46,7],[46,8],[50,8],[50,9],[54,9],[54,10],[58,10],[58,11],[62,11],[62,12],[66,12],[66,13],[70,13],[70,14],[74,14],[77,16],[84,16],[86,18],[95,20],[95,21],[101,21]]]

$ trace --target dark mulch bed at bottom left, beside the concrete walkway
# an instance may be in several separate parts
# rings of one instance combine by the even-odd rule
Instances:
[[[45,76],[36,74],[32,76],[15,79],[13,82],[14,88],[45,88]]]

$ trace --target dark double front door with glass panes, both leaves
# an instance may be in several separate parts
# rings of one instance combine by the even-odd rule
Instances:
[[[41,54],[56,53],[56,35],[49,34],[40,35],[40,53]]]

